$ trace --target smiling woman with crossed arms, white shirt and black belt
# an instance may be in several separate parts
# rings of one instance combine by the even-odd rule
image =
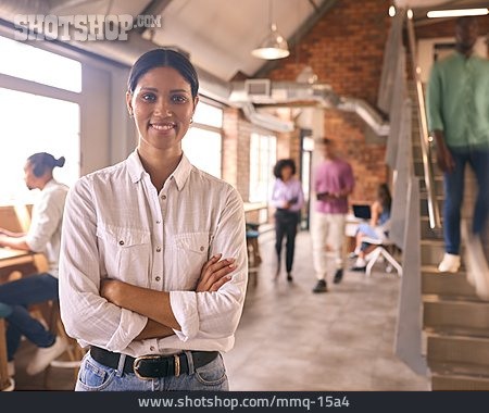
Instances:
[[[137,148],[66,200],[61,315],[90,346],[75,389],[228,390],[221,352],[234,346],[248,277],[242,200],[181,150],[199,101],[184,54],[148,51],[127,86]]]

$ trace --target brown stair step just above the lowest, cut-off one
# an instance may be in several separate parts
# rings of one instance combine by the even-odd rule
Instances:
[[[489,338],[429,335],[430,368],[489,378]]]

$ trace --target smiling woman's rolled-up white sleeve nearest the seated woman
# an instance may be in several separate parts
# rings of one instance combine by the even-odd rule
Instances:
[[[66,198],[61,237],[60,306],[66,333],[82,342],[122,352],[148,318],[100,297],[97,213],[88,177]]]

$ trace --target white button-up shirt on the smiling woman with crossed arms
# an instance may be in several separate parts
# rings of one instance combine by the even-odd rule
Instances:
[[[68,193],[60,259],[61,315],[82,347],[133,356],[179,350],[228,351],[247,287],[244,213],[227,183],[184,155],[160,193],[137,151],[80,178]],[[214,254],[235,258],[231,280],[216,292],[196,292]],[[181,331],[135,340],[148,318],[100,297],[100,279],[170,291]]]

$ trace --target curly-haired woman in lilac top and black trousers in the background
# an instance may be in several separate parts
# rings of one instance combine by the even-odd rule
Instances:
[[[275,212],[275,251],[277,253],[277,272],[280,274],[281,241],[287,234],[286,270],[287,280],[292,281],[293,252],[296,246],[297,225],[300,211],[304,204],[304,193],[299,179],[296,179],[296,163],[291,159],[283,159],[274,167],[275,180],[272,191],[272,205]]]

